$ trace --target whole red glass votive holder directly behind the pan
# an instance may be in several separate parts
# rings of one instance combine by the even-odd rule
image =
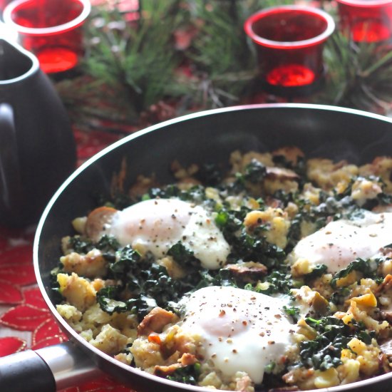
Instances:
[[[324,77],[324,42],[334,19],[308,6],[275,6],[250,16],[244,24],[256,45],[264,88],[277,95],[306,95]]]

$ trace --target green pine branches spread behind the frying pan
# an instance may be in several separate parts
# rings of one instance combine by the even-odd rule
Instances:
[[[244,33],[244,21],[277,1],[143,0],[142,4],[137,24],[127,23],[116,9],[93,8],[84,26],[86,55],[80,76],[56,83],[79,128],[99,129],[105,123],[110,132],[123,133],[148,120],[252,98],[257,56]],[[325,6],[329,14],[336,13],[329,3]],[[379,113],[391,109],[390,48],[357,45],[336,31],[326,43],[324,63],[325,86],[308,101]]]

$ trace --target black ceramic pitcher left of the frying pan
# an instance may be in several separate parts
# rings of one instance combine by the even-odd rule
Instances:
[[[0,226],[34,223],[76,165],[66,109],[32,53],[0,38]]]

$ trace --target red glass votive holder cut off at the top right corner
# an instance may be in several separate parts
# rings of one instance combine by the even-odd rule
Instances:
[[[355,42],[392,37],[392,0],[337,0],[341,31]]]

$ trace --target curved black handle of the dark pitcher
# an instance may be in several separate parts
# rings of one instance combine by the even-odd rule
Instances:
[[[17,213],[22,186],[19,153],[16,144],[14,110],[0,103],[0,220]]]

